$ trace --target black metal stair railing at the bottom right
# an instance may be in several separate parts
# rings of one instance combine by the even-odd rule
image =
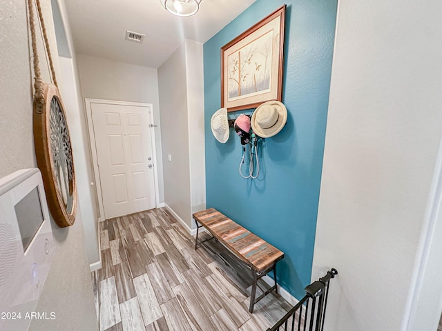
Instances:
[[[329,282],[336,274],[338,271],[332,268],[324,277],[308,285],[305,297],[267,331],[323,331]]]

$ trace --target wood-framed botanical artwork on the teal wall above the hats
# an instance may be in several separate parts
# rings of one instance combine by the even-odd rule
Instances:
[[[282,101],[285,5],[221,48],[221,107]]]

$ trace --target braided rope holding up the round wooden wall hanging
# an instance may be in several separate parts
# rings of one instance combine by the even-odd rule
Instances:
[[[39,14],[39,19],[41,23],[41,30],[43,30],[43,37],[44,37],[44,44],[46,47],[46,51],[48,52],[48,59],[49,59],[49,65],[50,65],[50,74],[52,81],[54,82],[55,86],[57,86],[57,79],[55,78],[55,70],[54,65],[52,63],[52,56],[50,54],[50,48],[49,48],[49,41],[48,41],[48,35],[46,33],[46,26],[44,24],[43,14],[41,10],[41,4],[40,0],[37,1],[37,12]],[[44,83],[41,79],[41,70],[39,66],[39,53],[37,50],[37,36],[35,33],[35,20],[34,20],[34,8],[32,6],[33,0],[28,0],[28,10],[29,10],[29,23],[30,23],[30,34],[32,38],[32,53],[33,53],[33,64],[34,64],[34,72],[35,72],[35,94],[34,98],[37,103],[37,106],[39,106],[39,110],[41,110],[41,107],[44,106],[45,100],[44,100]],[[37,111],[39,111],[37,110]],[[40,111],[39,111],[40,112]]]

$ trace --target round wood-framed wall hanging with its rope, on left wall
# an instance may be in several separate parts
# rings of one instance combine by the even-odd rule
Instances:
[[[28,0],[29,23],[32,38],[34,83],[34,143],[37,165],[43,177],[48,208],[52,219],[60,227],[73,225],[77,211],[77,188],[70,134],[66,113],[57,87],[48,35],[44,24],[40,0],[36,0],[37,13],[48,54],[52,83],[41,79],[33,1]]]

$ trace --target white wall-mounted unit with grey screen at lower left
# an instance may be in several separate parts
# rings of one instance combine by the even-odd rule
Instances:
[[[28,330],[55,254],[40,171],[0,179],[0,330]],[[45,316],[44,316],[45,315]]]

